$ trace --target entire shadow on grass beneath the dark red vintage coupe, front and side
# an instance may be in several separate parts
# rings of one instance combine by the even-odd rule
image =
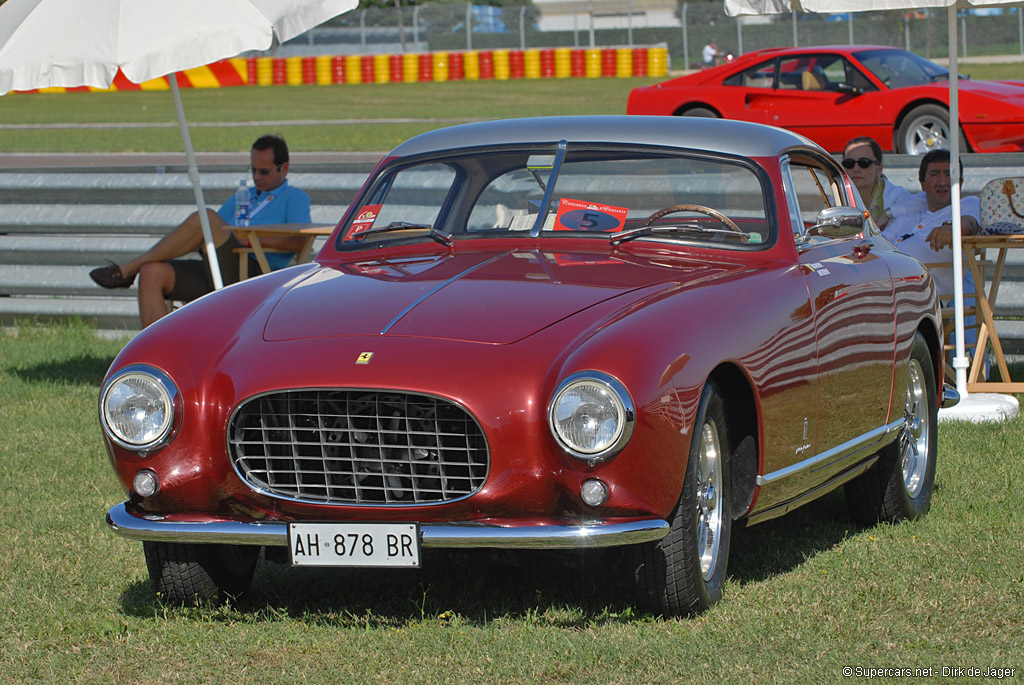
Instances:
[[[781,518],[736,526],[730,577],[744,585],[784,574],[861,529],[848,517],[842,490]],[[644,616],[622,550],[423,552],[420,569],[298,568],[261,559],[251,590],[229,602],[225,620],[241,613],[256,622],[288,616],[372,628],[457,616],[474,625],[537,618],[579,628]],[[133,615],[164,612],[147,583],[127,588],[122,604]]]

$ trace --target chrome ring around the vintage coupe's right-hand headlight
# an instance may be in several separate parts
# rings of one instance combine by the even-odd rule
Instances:
[[[602,401],[612,410],[615,416],[615,427],[611,434],[595,445],[582,445],[560,428],[559,410],[571,391],[592,386],[599,390]],[[591,464],[603,462],[617,455],[629,443],[636,424],[636,411],[629,391],[618,379],[599,371],[582,371],[565,378],[555,389],[548,404],[548,427],[558,444],[574,457]]]

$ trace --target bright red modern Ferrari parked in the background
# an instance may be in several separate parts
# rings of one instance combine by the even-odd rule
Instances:
[[[888,151],[946,147],[949,72],[891,47],[771,48],[630,93],[631,115],[721,117],[801,133],[825,149],[869,135]],[[959,84],[966,152],[1024,151],[1024,81]]]

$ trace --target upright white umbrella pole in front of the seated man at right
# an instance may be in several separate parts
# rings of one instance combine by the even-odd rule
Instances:
[[[967,397],[968,358],[964,337],[964,248],[961,237],[964,233],[961,221],[961,187],[959,187],[959,78],[956,53],[956,5],[950,5],[948,10],[949,39],[949,187],[951,190],[952,229],[953,229],[953,322],[956,350],[953,356],[953,370],[956,373],[956,391],[961,397]]]

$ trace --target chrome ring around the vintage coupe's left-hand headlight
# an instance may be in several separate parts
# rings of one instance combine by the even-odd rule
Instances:
[[[112,414],[116,408],[110,402],[117,399],[117,389],[125,387],[129,381],[143,382],[154,391],[163,405],[163,416],[154,430],[147,431],[144,439],[133,439],[116,427]],[[120,370],[103,384],[99,393],[99,424],[103,434],[114,443],[145,456],[170,442],[181,425],[181,395],[170,376],[147,365],[131,365]]]

